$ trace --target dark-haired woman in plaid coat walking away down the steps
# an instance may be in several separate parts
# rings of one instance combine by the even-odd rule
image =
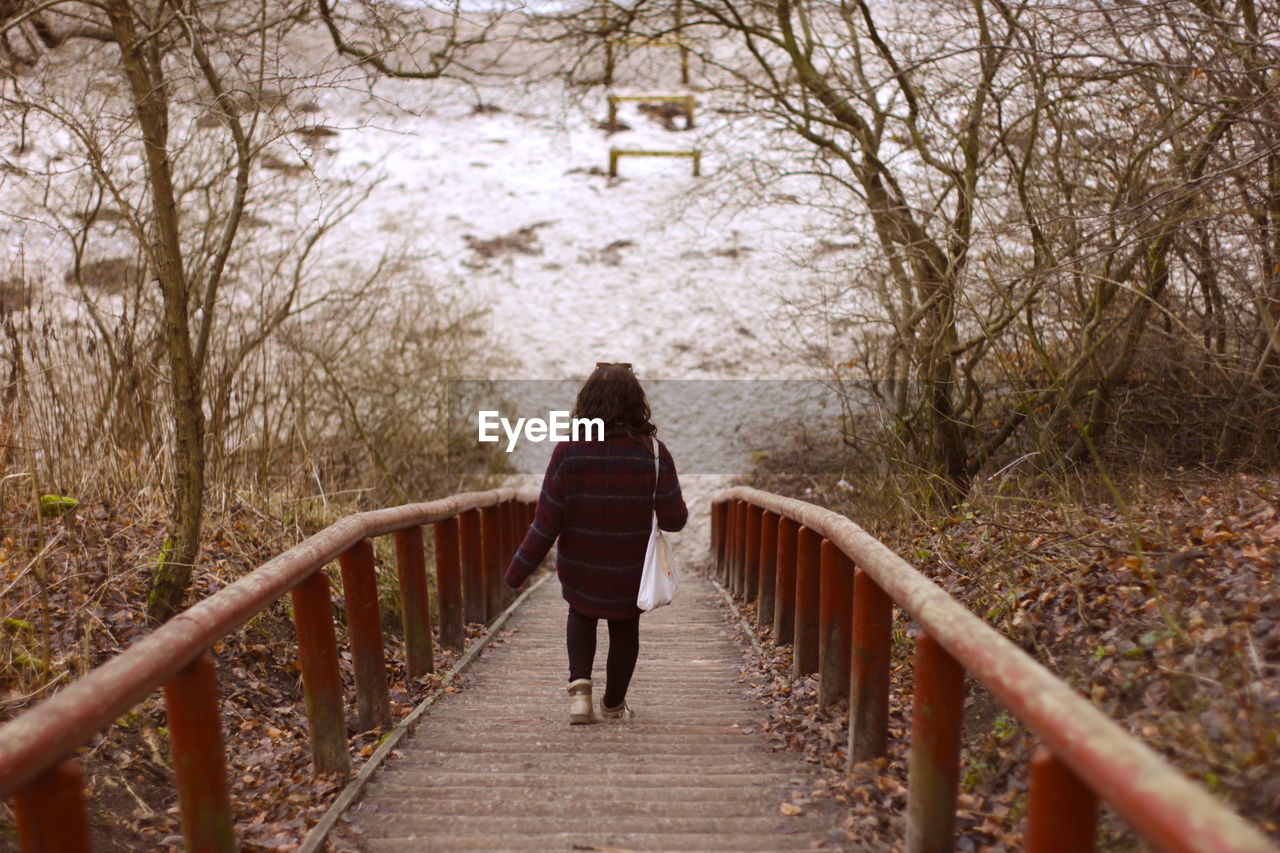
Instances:
[[[571,725],[595,722],[591,666],[602,619],[609,625],[609,654],[600,716],[616,719],[631,711],[627,686],[640,653],[636,594],[653,512],[663,530],[680,530],[689,519],[676,464],[654,437],[649,416],[649,401],[631,365],[595,365],[577,393],[572,418],[599,418],[604,439],[556,446],[534,523],[507,567],[507,584],[521,585],[559,539],[556,571],[568,602]]]

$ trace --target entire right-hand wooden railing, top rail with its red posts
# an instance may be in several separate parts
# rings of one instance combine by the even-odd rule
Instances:
[[[1254,826],[1183,776],[854,521],[831,510],[759,489],[737,487],[719,492],[712,503],[717,571],[724,585],[744,599],[760,594],[765,587],[774,587],[767,593],[774,624],[788,622],[778,619],[778,610],[794,606],[797,642],[800,625],[819,619],[820,613],[801,613],[803,603],[794,589],[776,587],[780,579],[786,579],[783,584],[796,583],[797,564],[801,573],[805,571],[804,561],[796,558],[796,537],[787,529],[791,523],[800,525],[801,542],[804,533],[812,532],[852,561],[851,761],[876,757],[884,749],[891,622],[883,596],[924,628],[915,658],[909,853],[951,850],[954,845],[965,671],[984,684],[1047,747],[1047,753],[1041,753],[1034,762],[1029,815],[1033,831],[1028,834],[1029,840],[1042,839],[1046,847],[1041,849],[1091,849],[1061,847],[1075,841],[1066,841],[1061,833],[1046,831],[1043,826],[1062,825],[1061,811],[1074,809],[1066,816],[1066,825],[1075,826],[1070,838],[1092,839],[1091,808],[1096,809],[1093,797],[1100,797],[1161,850],[1276,852]],[[774,535],[760,535],[759,525],[764,524],[781,526]],[[748,552],[748,543],[764,542],[777,542],[773,560]],[[753,590],[746,590],[749,580],[755,581]],[[824,584],[820,597],[841,594],[844,589],[844,583]],[[790,598],[787,592],[791,592]],[[819,628],[819,633],[828,630],[831,626]],[[845,634],[836,630],[833,635],[842,638]],[[797,649],[797,661],[799,657]],[[800,674],[819,669],[805,666]],[[833,693],[836,688],[829,688],[822,695]],[[1037,792],[1037,785],[1053,788]],[[1082,789],[1092,792],[1093,797],[1082,797]]]

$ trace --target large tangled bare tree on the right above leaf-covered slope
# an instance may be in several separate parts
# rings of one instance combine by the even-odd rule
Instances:
[[[628,9],[650,35],[675,14]],[[1185,418],[1134,380],[1184,407],[1230,388],[1221,456],[1275,400],[1274,10],[696,0],[681,26],[865,236],[838,307],[858,357],[828,368],[859,364],[942,502],[1011,453],[1098,459],[1135,393]]]

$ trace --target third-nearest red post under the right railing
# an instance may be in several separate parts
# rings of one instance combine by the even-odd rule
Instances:
[[[888,748],[888,666],[893,601],[861,569],[854,571],[850,661],[849,762],[879,758]]]

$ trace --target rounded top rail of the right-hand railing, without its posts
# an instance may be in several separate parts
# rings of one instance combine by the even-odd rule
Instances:
[[[750,487],[721,491],[712,503],[735,500],[776,512],[828,539],[1160,849],[1275,853],[1275,845],[1257,827],[849,517]]]

